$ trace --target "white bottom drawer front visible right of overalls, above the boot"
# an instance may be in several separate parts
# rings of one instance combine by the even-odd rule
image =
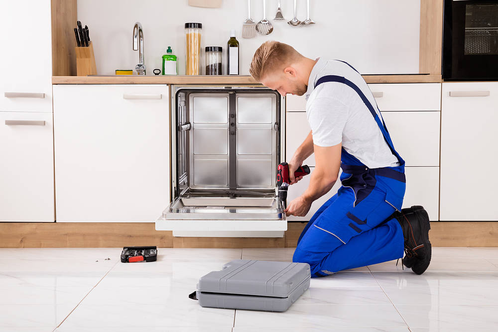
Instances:
[[[431,221],[439,219],[439,167],[405,167],[403,208],[421,205]]]

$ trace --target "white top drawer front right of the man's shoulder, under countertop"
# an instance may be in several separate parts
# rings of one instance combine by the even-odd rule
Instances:
[[[369,84],[380,111],[440,111],[440,83]]]

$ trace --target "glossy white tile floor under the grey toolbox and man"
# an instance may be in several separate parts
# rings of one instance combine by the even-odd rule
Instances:
[[[290,261],[293,248],[158,252],[125,264],[120,248],[0,248],[0,331],[498,330],[498,248],[435,247],[421,276],[392,261],[312,279],[284,313],[202,308],[188,294],[232,259]]]

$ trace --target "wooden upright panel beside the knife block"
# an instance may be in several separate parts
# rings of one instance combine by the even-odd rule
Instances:
[[[76,75],[76,0],[52,0],[52,75]]]

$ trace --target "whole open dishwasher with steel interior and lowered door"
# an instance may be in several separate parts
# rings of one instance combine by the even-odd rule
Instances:
[[[174,236],[283,236],[287,221],[276,195],[283,98],[254,87],[171,89],[172,202],[156,229]]]

